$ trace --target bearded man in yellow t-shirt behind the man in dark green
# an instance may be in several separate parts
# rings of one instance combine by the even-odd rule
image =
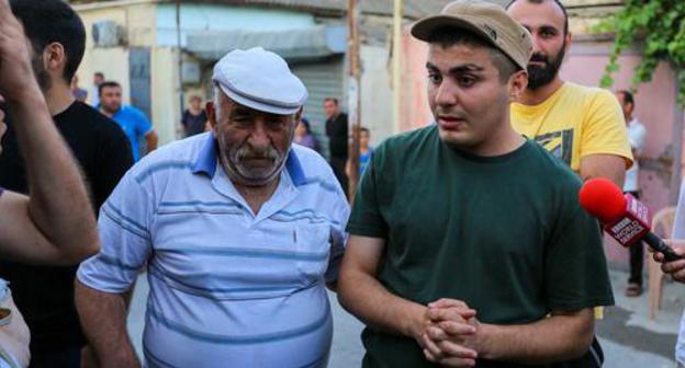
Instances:
[[[616,96],[559,77],[571,45],[565,9],[558,0],[514,0],[507,12],[534,39],[528,88],[512,104],[514,129],[562,159],[583,180],[608,177],[622,187],[632,153]]]

